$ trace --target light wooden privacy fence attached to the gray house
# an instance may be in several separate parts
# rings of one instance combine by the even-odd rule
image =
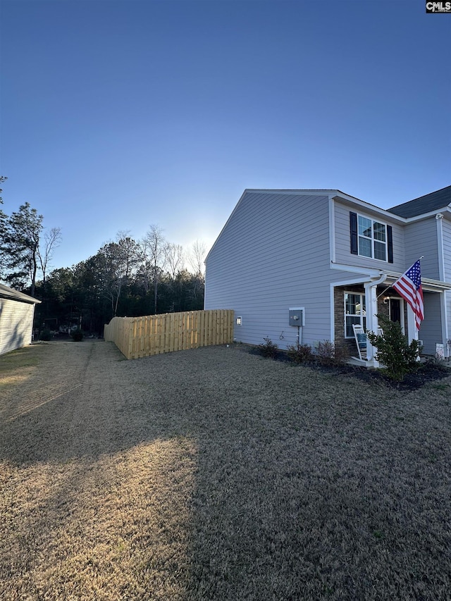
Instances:
[[[233,342],[233,310],[113,317],[104,329],[127,359]]]

